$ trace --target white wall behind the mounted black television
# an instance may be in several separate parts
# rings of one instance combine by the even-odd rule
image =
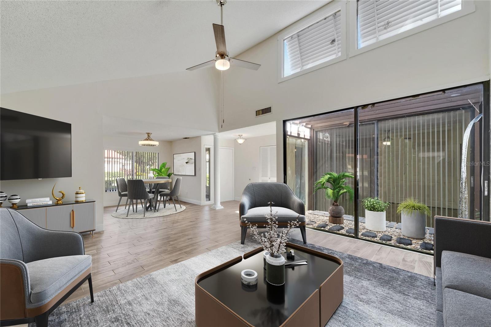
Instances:
[[[102,114],[94,91],[91,85],[85,84],[1,96],[1,107],[72,124],[72,177],[2,181],[0,188],[7,194],[19,194],[20,204],[25,204],[27,198],[52,198],[55,183],[55,191],[65,191],[66,200],[74,200],[75,190],[82,187],[87,199],[96,200],[96,225],[100,231],[104,229],[104,156]]]

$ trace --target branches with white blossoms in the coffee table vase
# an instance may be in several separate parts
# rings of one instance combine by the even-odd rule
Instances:
[[[271,256],[277,257],[286,251],[286,243],[288,242],[289,234],[292,228],[298,227],[300,225],[299,217],[293,221],[289,221],[285,228],[281,228],[281,232],[277,231],[278,228],[278,219],[276,211],[273,214],[273,202],[268,202],[270,205],[270,213],[265,215],[266,221],[268,224],[266,227],[265,233],[259,233],[257,231],[257,225],[247,222],[247,226],[250,228],[250,233],[252,238],[259,242],[266,251],[269,251]]]

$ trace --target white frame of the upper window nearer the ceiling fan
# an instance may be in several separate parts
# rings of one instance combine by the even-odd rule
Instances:
[[[306,68],[301,70],[300,72],[296,72],[294,74],[283,76],[284,73],[284,40],[295,33],[298,33],[300,30],[309,27],[312,24],[317,23],[318,21],[324,19],[327,16],[333,15],[335,12],[341,11],[341,54],[333,59],[329,59],[327,61],[321,62],[315,66]],[[323,68],[339,61],[345,60],[347,56],[347,39],[346,39],[346,2],[331,2],[326,4],[324,7],[316,10],[314,13],[300,19],[297,23],[290,26],[288,29],[285,29],[283,32],[278,34],[278,83],[291,80],[297,76],[310,73],[319,68]]]

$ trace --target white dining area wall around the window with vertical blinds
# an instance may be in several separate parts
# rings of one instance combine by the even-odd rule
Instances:
[[[137,140],[128,137],[104,136],[103,141],[104,141],[104,150],[158,152],[159,165],[166,162],[167,167],[169,166],[172,167],[172,142],[159,141],[159,146],[143,147],[138,145]],[[173,171],[172,168],[169,171],[172,172]],[[118,192],[104,192],[105,207],[115,206],[118,204],[118,201],[119,201]],[[125,202],[126,199],[123,198],[121,200],[121,203],[124,204]]]

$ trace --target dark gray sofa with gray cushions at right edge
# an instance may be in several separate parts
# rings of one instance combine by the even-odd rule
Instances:
[[[435,217],[436,327],[491,326],[491,222]]]

